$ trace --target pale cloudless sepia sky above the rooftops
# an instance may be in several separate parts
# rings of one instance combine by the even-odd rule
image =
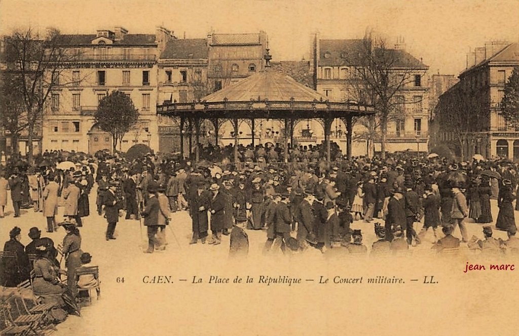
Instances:
[[[360,38],[371,27],[390,45],[404,37],[430,73],[444,74],[462,71],[466,53],[485,41],[519,41],[518,18],[519,0],[0,0],[0,34],[28,25],[95,34],[114,26],[154,33],[162,24],[179,38],[264,30],[275,61],[308,57],[312,32]]]

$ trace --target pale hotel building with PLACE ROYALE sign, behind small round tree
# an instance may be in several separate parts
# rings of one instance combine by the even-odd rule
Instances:
[[[138,124],[122,139],[120,150],[138,143],[157,150],[157,59],[173,38],[163,27],[156,34],[129,34],[115,27],[91,35],[61,35],[60,47],[72,57],[52,78],[59,85],[44,113],[43,147],[90,153],[111,149],[111,137],[95,125],[93,116],[99,101],[119,90],[139,110]]]

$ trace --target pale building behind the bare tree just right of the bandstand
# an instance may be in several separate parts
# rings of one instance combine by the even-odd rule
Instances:
[[[395,117],[389,120],[387,127],[386,151],[427,151],[429,67],[406,52],[403,41],[399,42],[394,49],[385,51],[390,52],[394,59],[391,63],[388,62],[391,72],[395,77],[403,78],[400,81],[402,85],[399,85],[397,93],[393,95],[396,111]],[[363,95],[364,89],[357,74],[357,69],[362,63],[359,61],[357,64],[358,58],[354,55],[365,47],[363,43],[362,39],[319,39],[317,36],[313,38],[310,64],[313,66],[316,90],[319,93],[329,97],[331,101],[362,100],[360,95]],[[373,46],[374,50],[376,48]],[[337,141],[340,144],[344,142],[343,130],[346,127],[342,121],[336,122]],[[365,127],[356,123],[353,127],[353,155],[370,154],[367,139],[360,136],[363,133],[366,133]],[[380,143],[376,139],[373,141],[375,151],[380,151]]]

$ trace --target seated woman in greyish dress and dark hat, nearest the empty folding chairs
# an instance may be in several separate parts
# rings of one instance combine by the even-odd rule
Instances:
[[[33,292],[42,298],[42,303],[53,303],[51,314],[54,323],[60,323],[66,318],[66,308],[71,313],[79,314],[70,290],[58,279],[59,269],[51,261],[52,250],[49,244],[40,242],[36,246],[37,259],[34,261]]]

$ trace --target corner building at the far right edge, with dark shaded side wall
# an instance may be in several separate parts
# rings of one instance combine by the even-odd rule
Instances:
[[[459,83],[442,94],[436,105],[434,122],[440,132],[434,134],[434,142],[448,146],[457,155],[463,153],[465,158],[477,153],[519,160],[519,130],[500,114],[504,85],[518,65],[519,43],[488,42],[469,53]],[[471,122],[453,129],[452,115]],[[460,133],[466,134],[461,142]]]

